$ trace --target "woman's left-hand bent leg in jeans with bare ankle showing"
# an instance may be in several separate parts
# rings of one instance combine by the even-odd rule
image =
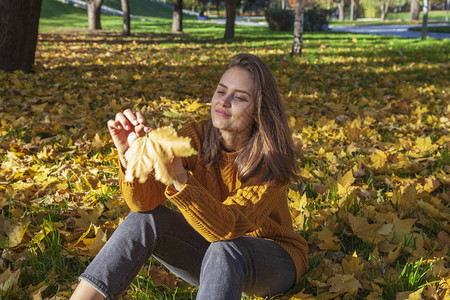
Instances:
[[[179,212],[164,206],[146,213],[131,212],[80,279],[107,299],[119,298],[154,254],[175,274],[198,284],[208,245]]]

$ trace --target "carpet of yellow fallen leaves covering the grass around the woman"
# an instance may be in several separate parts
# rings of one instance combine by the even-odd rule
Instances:
[[[448,42],[312,38],[295,59],[286,42],[175,38],[44,34],[35,73],[0,72],[0,295],[67,297],[126,216],[108,119],[207,118],[225,63],[248,51],[273,69],[299,149],[288,195],[310,270],[285,297],[449,297]],[[38,276],[33,257],[55,245],[81,268]]]

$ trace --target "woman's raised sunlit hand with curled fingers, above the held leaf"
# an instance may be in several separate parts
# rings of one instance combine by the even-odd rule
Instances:
[[[133,113],[131,109],[116,114],[115,120],[109,120],[108,129],[124,168],[127,167],[125,152],[138,137],[151,131],[145,126],[144,116],[140,112]]]

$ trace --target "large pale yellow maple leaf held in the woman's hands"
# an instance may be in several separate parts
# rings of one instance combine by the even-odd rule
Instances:
[[[172,127],[161,127],[136,139],[125,153],[128,161],[125,180],[135,178],[144,183],[150,173],[155,171],[155,179],[169,185],[173,182],[168,169],[175,157],[188,157],[197,154],[189,137],[179,137]]]

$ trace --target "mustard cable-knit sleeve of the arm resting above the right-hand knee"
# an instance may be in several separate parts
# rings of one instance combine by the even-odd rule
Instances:
[[[214,242],[261,228],[279,201],[286,201],[286,188],[286,185],[250,185],[220,202],[191,176],[179,192],[169,186],[165,194],[197,232]]]

